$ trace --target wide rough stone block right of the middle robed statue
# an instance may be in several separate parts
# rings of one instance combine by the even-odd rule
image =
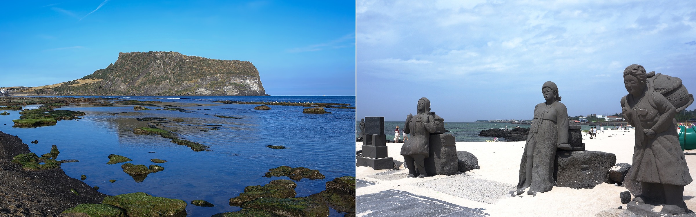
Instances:
[[[616,154],[607,152],[556,152],[553,178],[559,187],[594,188],[609,183],[607,172],[615,163]]]

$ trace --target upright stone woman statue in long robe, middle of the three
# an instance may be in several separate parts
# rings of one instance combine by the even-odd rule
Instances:
[[[534,120],[520,163],[517,195],[529,187],[528,195],[551,191],[553,164],[557,148],[571,150],[568,144],[568,111],[559,101],[558,87],[551,81],[541,86],[546,102],[534,108]]]

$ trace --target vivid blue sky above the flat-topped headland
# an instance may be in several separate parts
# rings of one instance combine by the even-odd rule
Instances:
[[[251,61],[269,95],[355,95],[354,1],[6,1],[0,86],[103,69],[118,52]]]

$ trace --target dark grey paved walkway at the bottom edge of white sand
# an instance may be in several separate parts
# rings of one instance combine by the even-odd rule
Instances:
[[[361,179],[356,180],[357,187],[374,183]],[[406,191],[387,190],[367,195],[358,195],[356,201],[356,216],[358,217],[468,217],[489,216],[483,209],[471,209],[457,204],[415,195]]]

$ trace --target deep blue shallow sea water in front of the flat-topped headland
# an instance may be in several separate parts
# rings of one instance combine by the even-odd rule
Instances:
[[[63,106],[61,109],[83,111],[81,119],[62,120],[43,127],[13,127],[18,111],[0,115],[0,131],[17,135],[29,145],[31,152],[48,153],[57,145],[58,160],[77,159],[63,163],[61,168],[70,177],[99,186],[108,195],[145,192],[165,198],[189,202],[189,216],[212,216],[241,208],[231,207],[228,200],[244,191],[244,187],[268,184],[274,179],[262,177],[278,166],[306,167],[319,170],[326,179],[296,181],[297,197],[323,191],[326,182],[335,177],[355,176],[354,138],[351,124],[354,109],[326,109],[332,113],[306,114],[302,106],[270,106],[271,110],[254,110],[254,104],[221,104],[215,100],[335,102],[355,106],[354,96],[254,96],[254,97],[108,97],[106,99],[157,100],[191,111],[133,111],[133,106]],[[27,109],[40,105],[26,106]],[[157,107],[145,106],[149,109]],[[127,113],[122,113],[127,112]],[[117,113],[110,115],[110,113]],[[242,119],[223,119],[226,115]],[[184,122],[162,124],[161,129],[176,131],[181,138],[208,145],[211,152],[193,152],[189,147],[171,143],[160,136],[136,135],[128,129],[145,127],[148,122],[135,118],[182,118]],[[221,124],[222,127],[208,126]],[[215,127],[219,130],[212,130]],[[200,131],[209,130],[209,131]],[[38,140],[38,144],[30,141]],[[274,150],[266,145],[286,145],[289,149]],[[109,154],[119,154],[134,161],[127,163],[163,166],[161,172],[150,173],[143,182],[135,182],[122,171],[122,163],[107,165]],[[150,159],[166,163],[152,163]],[[114,183],[109,179],[116,179]],[[198,207],[191,200],[207,200],[215,207]],[[342,216],[331,210],[331,216]]]

